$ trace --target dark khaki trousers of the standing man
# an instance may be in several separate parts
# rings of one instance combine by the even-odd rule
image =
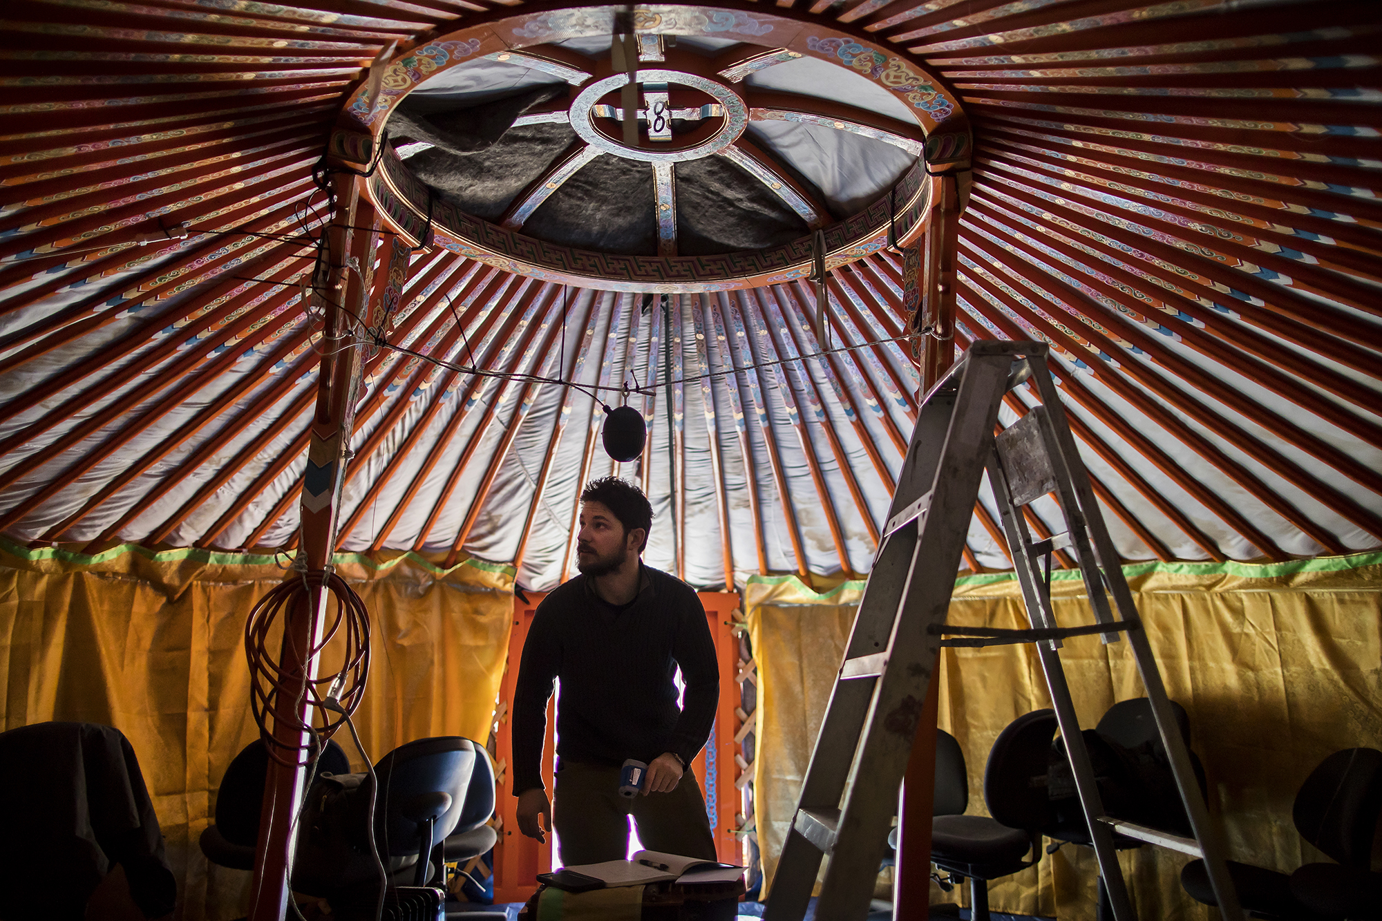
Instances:
[[[629,855],[629,816],[647,850],[716,860],[714,837],[695,774],[687,772],[670,792],[625,798],[619,768],[565,762],[557,770],[551,821],[562,866],[623,860]]]

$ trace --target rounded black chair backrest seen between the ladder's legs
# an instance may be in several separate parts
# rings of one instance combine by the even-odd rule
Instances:
[[[988,815],[1009,828],[1031,831],[1053,819],[1045,785],[1050,740],[1056,736],[1056,711],[1023,714],[998,734],[984,766],[984,802]]]

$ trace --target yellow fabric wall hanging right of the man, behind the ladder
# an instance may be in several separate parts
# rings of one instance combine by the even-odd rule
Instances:
[[[1204,761],[1230,856],[1288,871],[1327,860],[1296,834],[1291,803],[1329,752],[1382,748],[1382,553],[1262,566],[1151,563],[1124,573],[1166,690],[1190,714],[1191,748]],[[760,676],[755,790],[768,875],[849,639],[853,608],[843,597],[854,585],[862,586],[837,589],[839,600],[818,599],[795,577],[755,577],[745,590]],[[1054,573],[1052,593],[1063,625],[1093,622],[1078,573]],[[1027,626],[1016,578],[956,579],[949,622]],[[1126,642],[1066,640],[1061,660],[1086,729],[1114,703],[1143,696]],[[1049,705],[1034,647],[943,650],[938,725],[965,750],[970,813],[985,812],[984,763],[998,733]],[[1179,885],[1190,857],[1148,846],[1119,859],[1139,917],[1208,921],[1211,910]],[[1088,849],[1064,846],[991,884],[990,902],[1002,911],[1093,918],[1096,877]],[[967,902],[967,893],[934,885],[931,896]]]

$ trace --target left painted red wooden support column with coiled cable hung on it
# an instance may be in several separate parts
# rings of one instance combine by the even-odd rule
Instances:
[[[316,382],[316,411],[303,477],[300,564],[308,571],[328,570],[334,550],[340,494],[350,459],[350,437],[355,425],[359,393],[361,353],[357,348],[357,319],[368,310],[366,292],[375,267],[375,234],[352,231],[355,225],[377,225],[375,209],[361,203],[352,171],[332,176],[334,209],[326,230],[326,254],[312,278],[314,311],[325,317],[316,348],[322,354]],[[366,213],[368,212],[368,213]],[[351,313],[343,310],[348,308]],[[293,573],[289,578],[297,578]],[[287,910],[289,881],[296,828],[293,819],[307,785],[308,736],[301,726],[310,719],[307,682],[316,676],[316,661],[307,650],[319,642],[326,592],[314,589],[296,606],[283,625],[279,661],[290,676],[292,693],[281,690],[274,708],[274,738],[283,748],[303,752],[296,765],[268,762],[260,837],[254,855],[254,888],[250,918],[281,921]]]

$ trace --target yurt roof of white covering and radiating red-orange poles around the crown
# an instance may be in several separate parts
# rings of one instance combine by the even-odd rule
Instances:
[[[1125,559],[1382,542],[1376,3],[807,4],[766,11],[893,50],[967,113],[955,344],[1050,343]],[[524,8],[10,0],[0,532],[292,548],[329,348],[301,286],[312,166],[390,43]],[[860,347],[821,358],[802,282],[644,310],[419,250],[390,342],[643,387],[648,448],[614,465],[586,393],[370,348],[340,546],[514,563],[550,588],[579,483],[616,472],[651,494],[648,561],[695,585],[724,585],[727,561],[741,581],[865,573],[918,400],[890,342],[901,289],[887,252],[837,268],[831,344]],[[994,521],[985,498],[970,568],[1010,567]]]

